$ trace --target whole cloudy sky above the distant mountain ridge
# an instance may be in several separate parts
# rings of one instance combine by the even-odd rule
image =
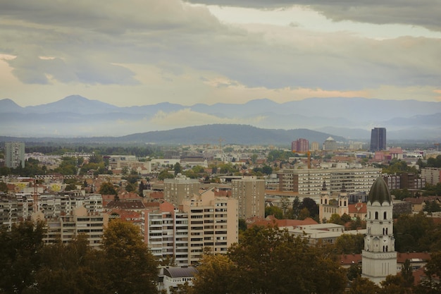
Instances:
[[[441,102],[440,16],[440,0],[0,0],[0,99]]]

